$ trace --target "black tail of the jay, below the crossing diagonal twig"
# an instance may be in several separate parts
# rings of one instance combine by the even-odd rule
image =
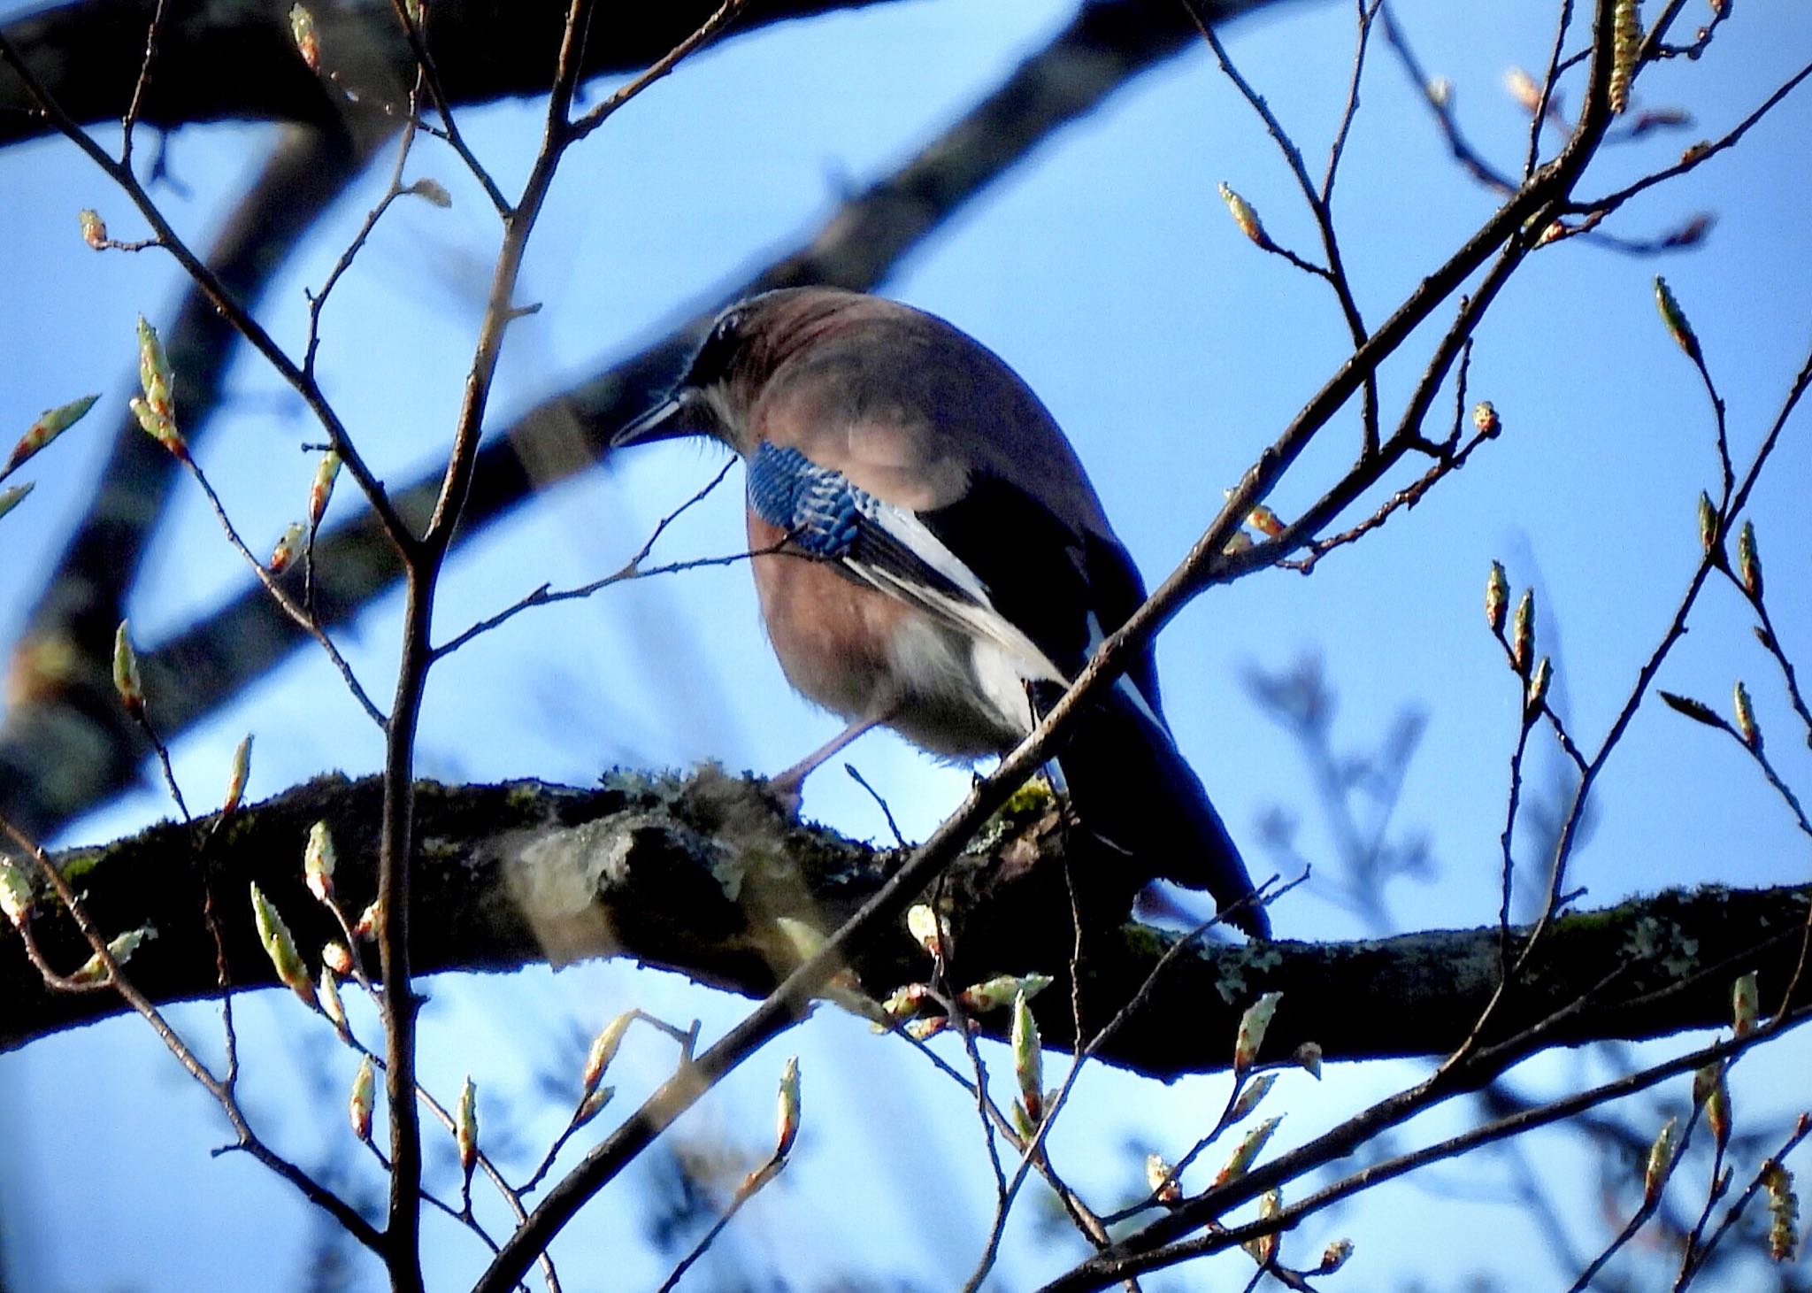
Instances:
[[[1230,925],[1270,938],[1270,919],[1252,898],[1252,878],[1221,814],[1131,680],[1122,678],[1078,716],[1056,763],[1089,831],[1152,874],[1209,890]],[[1239,905],[1247,898],[1252,901]]]

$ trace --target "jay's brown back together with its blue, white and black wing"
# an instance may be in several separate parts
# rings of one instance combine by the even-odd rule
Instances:
[[[1111,633],[1145,600],[1075,450],[989,350],[893,303],[863,308],[864,326],[763,394],[756,459],[776,455],[788,501],[823,491],[801,519],[852,575],[1009,647],[1027,676],[1067,682],[1096,646],[1091,624]],[[788,510],[763,515],[797,530]],[[1149,651],[1129,676],[1161,713]]]

